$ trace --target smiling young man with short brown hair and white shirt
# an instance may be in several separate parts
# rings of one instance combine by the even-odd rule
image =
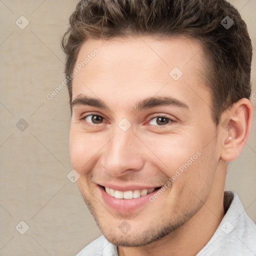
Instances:
[[[102,236],[77,255],[256,255],[224,192],[250,129],[251,41],[224,0],[82,0],[62,38],[70,160]]]

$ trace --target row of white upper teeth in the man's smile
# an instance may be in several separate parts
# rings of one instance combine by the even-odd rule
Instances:
[[[106,192],[114,196],[115,198],[120,198],[120,199],[132,199],[132,198],[137,198],[143,195],[146,195],[148,193],[151,193],[155,190],[156,188],[149,188],[149,189],[142,189],[142,190],[128,190],[128,191],[118,191],[114,190],[113,188],[109,188],[105,186]]]

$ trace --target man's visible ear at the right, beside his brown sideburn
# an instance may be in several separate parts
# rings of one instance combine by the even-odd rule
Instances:
[[[250,132],[252,106],[247,98],[241,98],[221,116],[219,137],[224,161],[232,161],[241,153]]]

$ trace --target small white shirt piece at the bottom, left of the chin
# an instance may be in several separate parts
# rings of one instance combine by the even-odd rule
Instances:
[[[79,251],[76,256],[101,256],[104,240],[103,235],[99,236]]]

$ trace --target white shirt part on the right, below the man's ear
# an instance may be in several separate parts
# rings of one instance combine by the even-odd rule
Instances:
[[[238,196],[228,192],[232,195],[228,210],[214,235],[197,255],[256,255],[256,225],[246,214]]]

